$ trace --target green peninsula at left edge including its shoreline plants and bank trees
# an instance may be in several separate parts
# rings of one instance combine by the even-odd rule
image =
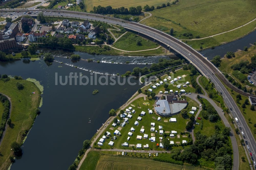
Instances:
[[[3,77],[7,78],[3,79]],[[10,108],[12,114],[0,146],[0,169],[8,169],[10,164],[15,162],[15,158],[21,158],[22,144],[33,126],[35,118],[40,114],[38,106],[42,87],[39,89],[37,83],[34,82],[23,80],[18,76],[12,78],[7,75],[2,75],[0,80],[0,92],[12,100],[12,108]]]

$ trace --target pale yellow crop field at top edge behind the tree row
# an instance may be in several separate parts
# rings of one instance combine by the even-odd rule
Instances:
[[[137,7],[137,6],[142,6],[142,8],[145,5],[149,5],[149,6],[157,6],[157,5],[162,5],[163,3],[166,4],[167,2],[173,2],[173,0],[131,0],[131,1],[117,1],[117,0],[84,0],[85,6],[86,6],[86,10],[90,11],[93,9],[94,6],[112,6],[112,8],[120,8],[120,7],[125,7],[125,8],[129,8],[129,7]]]

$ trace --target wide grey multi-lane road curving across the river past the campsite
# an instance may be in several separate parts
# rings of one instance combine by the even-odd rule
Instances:
[[[28,9],[31,10],[31,9]],[[20,10],[19,11],[25,11]],[[38,10],[39,11],[39,10]],[[216,89],[219,92],[222,92],[223,100],[226,106],[232,111],[230,111],[231,115],[235,118],[238,118],[238,122],[234,121],[237,125],[242,127],[242,131],[244,132],[245,140],[248,141],[248,145],[252,154],[256,154],[256,142],[253,138],[252,132],[248,127],[242,113],[240,112],[238,106],[236,105],[235,101],[233,100],[232,96],[229,94],[228,90],[223,86],[221,81],[217,78],[216,75],[221,75],[221,72],[212,65],[205,57],[203,57],[200,53],[196,50],[188,46],[187,44],[179,41],[178,39],[163,33],[159,30],[153,29],[151,27],[135,23],[135,22],[127,22],[121,19],[106,17],[97,14],[89,14],[89,13],[81,13],[75,11],[64,11],[64,10],[42,10],[42,12],[47,16],[63,16],[63,17],[70,17],[70,18],[81,18],[81,19],[88,19],[88,20],[97,20],[97,21],[104,21],[114,25],[121,25],[127,29],[137,31],[138,33],[142,33],[147,35],[148,37],[154,38],[159,42],[164,43],[165,45],[169,46],[186,59],[188,59],[204,76],[211,79],[211,81],[215,84]],[[56,11],[56,12],[55,12]],[[12,11],[13,12],[13,11]],[[11,13],[12,13],[11,12]],[[50,13],[51,12],[51,13]],[[3,11],[1,14],[10,13],[10,10]],[[22,12],[23,14],[23,12]],[[36,16],[37,14],[30,14],[31,16]],[[255,155],[256,158],[256,155]],[[234,164],[236,164],[236,168],[239,166],[239,157],[234,154]],[[238,165],[237,165],[238,164]]]

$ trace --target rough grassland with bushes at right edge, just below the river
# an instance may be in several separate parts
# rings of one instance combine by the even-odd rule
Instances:
[[[255,54],[256,54],[256,46],[255,45],[252,45],[251,47],[249,47],[248,51],[237,51],[235,53],[236,57],[222,58],[221,65],[220,65],[219,69],[221,70],[221,72],[229,74],[233,79],[235,79],[237,82],[241,83],[242,86],[247,86],[247,87],[249,87],[248,89],[252,88],[253,92],[254,92],[254,90],[256,90],[256,87],[254,86],[254,84],[251,84],[248,81],[246,81],[247,83],[244,83],[244,81],[241,82],[237,76],[237,75],[240,75],[240,76],[246,77],[246,80],[247,80],[248,74],[242,74],[241,72],[239,73],[238,70],[234,71],[231,68],[231,66],[234,64],[238,64],[241,61],[243,61],[243,62],[248,61],[249,63],[251,63],[251,57],[254,56]]]

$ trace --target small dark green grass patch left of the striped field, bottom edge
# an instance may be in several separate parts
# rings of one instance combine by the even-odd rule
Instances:
[[[88,152],[86,159],[83,161],[81,170],[94,170],[100,159],[100,152],[90,151]]]

